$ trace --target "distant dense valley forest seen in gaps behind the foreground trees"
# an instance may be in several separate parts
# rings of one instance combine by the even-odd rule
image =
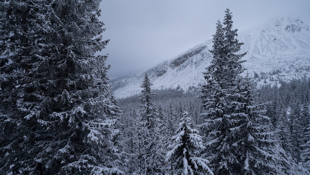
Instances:
[[[260,80],[256,77],[254,81]],[[277,87],[278,83],[281,86]],[[281,143],[287,154],[291,155],[291,161],[297,164],[302,162],[298,166],[295,165],[296,173],[298,171],[301,173],[303,168],[308,168],[309,161],[310,79],[291,81],[280,79],[278,83],[259,86],[256,89],[254,103],[265,103],[262,107],[263,114],[270,118],[267,123],[273,131],[273,138]],[[153,104],[157,106],[158,114],[162,116],[164,123],[173,126],[172,133],[176,131],[184,111],[187,111],[187,116],[192,119],[190,126],[199,130],[197,125],[203,121],[201,113],[204,110],[201,99],[197,98],[200,95],[200,87],[189,86],[186,90],[177,87],[153,92],[155,93]],[[121,131],[129,132],[128,128],[133,125],[132,120],[137,120],[141,105],[139,94],[118,99],[118,104],[122,110]],[[170,121],[174,121],[174,124]]]

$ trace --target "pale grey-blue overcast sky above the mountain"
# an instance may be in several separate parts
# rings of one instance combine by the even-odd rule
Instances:
[[[145,71],[211,39],[226,8],[239,31],[288,14],[310,16],[310,0],[103,0],[110,42],[100,54],[109,54],[109,78]]]

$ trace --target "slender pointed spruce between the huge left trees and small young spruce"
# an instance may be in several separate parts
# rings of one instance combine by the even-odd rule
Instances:
[[[166,154],[167,139],[163,133],[162,120],[159,118],[157,107],[153,104],[155,93],[151,90],[147,73],[144,75],[141,90],[140,110],[138,111],[138,123],[134,132],[134,156],[136,157],[136,173],[156,174],[165,172],[163,156]]]

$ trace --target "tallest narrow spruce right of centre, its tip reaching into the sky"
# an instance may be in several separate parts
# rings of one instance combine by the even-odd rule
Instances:
[[[210,51],[213,60],[204,72],[206,83],[201,86],[200,95],[203,107],[207,109],[202,114],[205,122],[200,125],[207,147],[204,156],[211,160],[210,166],[216,174],[230,174],[234,168],[231,166],[236,157],[231,152],[232,145],[229,142],[234,137],[230,129],[236,126],[231,120],[233,107],[230,105],[237,76],[243,71],[240,58],[246,54],[235,54],[242,43],[235,39],[237,30],[231,30],[232,16],[229,9],[225,12],[226,26],[217,22],[213,50]]]

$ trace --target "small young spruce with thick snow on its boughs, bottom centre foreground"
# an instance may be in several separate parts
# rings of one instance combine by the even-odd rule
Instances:
[[[197,152],[204,149],[201,136],[198,131],[190,127],[190,118],[188,113],[184,111],[183,117],[180,119],[179,128],[175,131],[177,135],[171,137],[172,144],[168,148],[166,155],[166,163],[175,160],[175,174],[212,174],[207,166],[208,160],[197,157]],[[171,172],[172,174],[172,172]]]

